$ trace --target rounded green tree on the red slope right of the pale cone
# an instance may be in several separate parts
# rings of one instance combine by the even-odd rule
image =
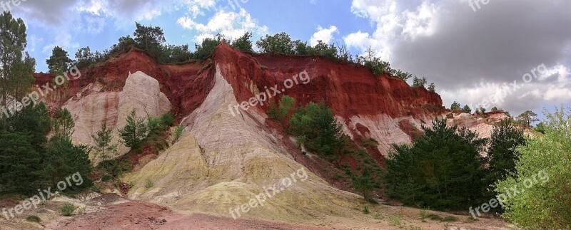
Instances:
[[[322,156],[333,155],[343,146],[341,130],[333,112],[325,103],[308,103],[290,119],[290,132],[300,140],[307,150]]]

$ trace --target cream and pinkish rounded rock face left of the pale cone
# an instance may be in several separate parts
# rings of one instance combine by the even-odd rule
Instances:
[[[101,124],[106,122],[113,130],[112,143],[118,144],[118,154],[124,155],[129,148],[121,145],[118,130],[125,127],[131,110],[145,119],[171,111],[171,103],[161,93],[158,81],[140,71],[128,75],[121,92],[101,92],[101,89],[98,83],[90,84],[63,106],[74,117],[76,127],[72,139],[78,144],[95,145],[91,135],[95,135]],[[84,93],[87,95],[82,96]],[[90,158],[98,162],[102,156],[92,155]]]

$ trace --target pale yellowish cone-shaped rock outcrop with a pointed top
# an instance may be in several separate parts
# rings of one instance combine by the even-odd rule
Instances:
[[[295,162],[276,137],[263,129],[258,110],[233,117],[236,105],[233,88],[217,66],[216,83],[202,105],[183,119],[186,133],[181,140],[141,170],[124,178],[135,186],[133,199],[143,199],[181,211],[204,212],[232,217],[229,209],[251,202],[281,179],[295,182],[263,207],[241,213],[255,219],[303,221],[315,214],[351,212],[358,195],[331,187]],[[254,118],[252,118],[254,117]],[[298,170],[307,179],[298,177]],[[299,171],[302,172],[302,171]],[[146,182],[153,187],[146,187]],[[280,188],[280,187],[278,187]],[[273,194],[269,190],[270,194]]]

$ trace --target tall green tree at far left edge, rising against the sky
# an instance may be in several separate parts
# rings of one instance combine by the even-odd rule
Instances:
[[[33,73],[14,74],[13,68],[22,62],[23,52],[28,42],[26,40],[26,24],[22,19],[14,19],[9,11],[0,15],[0,108],[8,105],[9,95],[14,96],[14,88],[21,83],[22,76]],[[25,63],[26,61],[24,61]],[[25,81],[25,80],[24,80]],[[31,84],[29,85],[31,86]],[[19,85],[25,88],[26,85]],[[2,125],[6,128],[6,114],[2,115]]]

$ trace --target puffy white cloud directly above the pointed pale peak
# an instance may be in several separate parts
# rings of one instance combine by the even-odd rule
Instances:
[[[241,9],[236,13],[233,11],[218,11],[207,23],[198,23],[191,16],[184,16],[176,21],[183,28],[198,31],[195,36],[196,41],[202,41],[203,38],[213,37],[216,33],[220,33],[226,38],[236,39],[243,36],[246,31],[255,34],[268,33],[267,26],[258,26],[258,22],[252,19],[252,16]]]

